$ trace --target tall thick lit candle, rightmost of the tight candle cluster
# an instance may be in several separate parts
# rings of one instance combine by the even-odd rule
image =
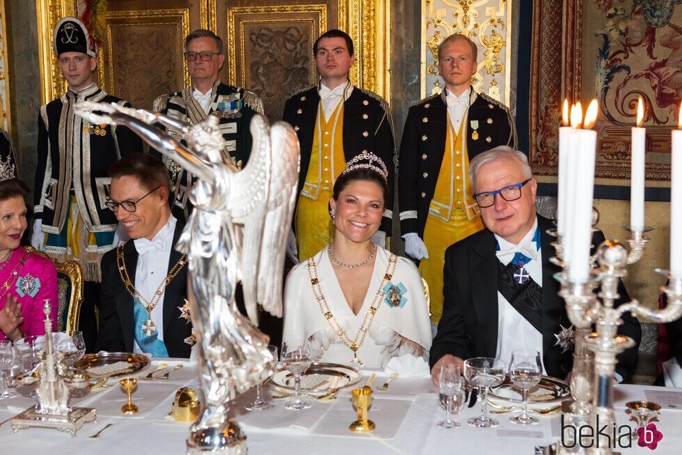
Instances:
[[[576,172],[573,196],[573,225],[571,238],[571,264],[569,279],[585,283],[589,279],[589,247],[592,245],[592,197],[594,195],[594,164],[596,158],[596,131],[590,130],[596,121],[598,105],[592,100],[587,107],[582,130],[576,130],[576,144],[580,155],[580,172]],[[578,160],[576,160],[577,162]]]

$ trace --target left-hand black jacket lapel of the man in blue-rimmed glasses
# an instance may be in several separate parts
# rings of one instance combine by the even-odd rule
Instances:
[[[495,357],[498,343],[498,291],[497,291],[497,267],[495,261],[495,237],[492,233],[482,236],[477,245],[473,246],[470,253],[471,294],[475,302],[476,315],[479,324],[483,327],[482,333],[476,336],[482,337],[486,348],[486,355]]]

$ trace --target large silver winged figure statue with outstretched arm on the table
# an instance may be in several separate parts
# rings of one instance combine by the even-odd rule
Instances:
[[[270,357],[268,337],[256,328],[257,305],[282,315],[283,245],[299,173],[296,134],[287,123],[270,128],[264,117],[255,116],[251,157],[237,171],[223,155],[214,116],[189,125],[113,103],[80,102],[76,109],[90,122],[127,126],[198,177],[190,196],[194,209],[176,245],[189,259],[189,308],[206,397],[187,446],[190,453],[246,453],[245,436],[227,411],[235,392],[253,387],[270,373],[264,367]],[[168,133],[154,123],[164,125]],[[238,282],[251,323],[235,304]]]

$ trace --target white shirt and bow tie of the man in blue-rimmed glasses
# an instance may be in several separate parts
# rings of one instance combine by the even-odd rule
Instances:
[[[537,249],[537,245],[532,241],[536,229],[537,217],[530,231],[521,239],[521,242],[518,242],[518,245],[507,242],[497,235],[495,235],[495,240],[500,245],[500,251],[497,253],[498,260],[507,265],[512,262],[516,252],[525,254],[531,259],[525,265],[525,270],[528,271],[533,281],[542,287],[542,252],[541,249]],[[516,349],[537,350],[542,359],[542,334],[526,321],[498,291],[498,347],[495,357],[507,362],[508,366],[512,360],[512,352]],[[542,371],[545,372],[544,365]]]

